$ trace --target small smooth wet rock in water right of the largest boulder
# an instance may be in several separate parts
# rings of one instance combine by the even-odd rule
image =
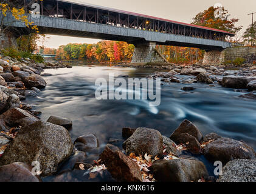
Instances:
[[[75,139],[74,146],[78,150],[88,152],[99,147],[99,140],[94,134],[89,133],[88,135],[83,135]]]

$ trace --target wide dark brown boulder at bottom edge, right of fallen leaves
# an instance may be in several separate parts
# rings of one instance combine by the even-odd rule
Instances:
[[[150,170],[161,182],[191,182],[208,176],[204,163],[190,159],[159,159],[153,162]]]

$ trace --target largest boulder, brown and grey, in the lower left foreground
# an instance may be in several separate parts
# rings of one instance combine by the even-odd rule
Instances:
[[[0,166],[16,161],[26,164],[38,161],[42,175],[47,176],[57,171],[72,150],[71,137],[64,127],[36,121],[18,131],[0,158]]]

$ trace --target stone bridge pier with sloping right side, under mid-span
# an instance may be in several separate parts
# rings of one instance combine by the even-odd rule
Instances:
[[[166,63],[166,59],[156,51],[156,42],[133,43],[135,50],[133,53],[133,64]]]

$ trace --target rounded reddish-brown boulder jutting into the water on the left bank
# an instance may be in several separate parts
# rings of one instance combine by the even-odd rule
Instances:
[[[42,89],[46,87],[46,81],[40,75],[32,74],[24,78],[24,85],[28,88],[36,87]]]

